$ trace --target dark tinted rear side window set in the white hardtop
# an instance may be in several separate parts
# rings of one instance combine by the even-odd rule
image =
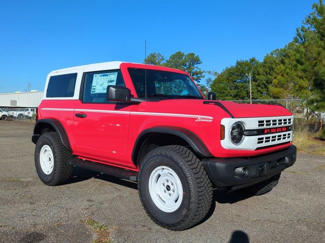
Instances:
[[[46,97],[73,97],[75,94],[77,73],[51,76],[46,90]]]

